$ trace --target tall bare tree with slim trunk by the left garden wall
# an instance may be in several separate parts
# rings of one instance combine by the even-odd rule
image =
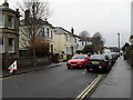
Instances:
[[[42,32],[43,20],[50,17],[49,3],[40,0],[23,0],[19,8],[25,13],[20,30],[23,34],[22,40],[25,41],[23,44],[32,43],[33,66],[35,66],[35,37]]]

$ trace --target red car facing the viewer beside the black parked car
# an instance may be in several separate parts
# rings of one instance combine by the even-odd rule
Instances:
[[[66,62],[66,67],[68,67],[68,69],[70,69],[70,68],[84,68],[88,59],[89,59],[88,54],[75,54],[72,57],[72,59],[70,59]]]

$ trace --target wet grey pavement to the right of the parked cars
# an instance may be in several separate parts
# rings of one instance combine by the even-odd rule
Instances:
[[[120,57],[91,98],[131,98],[133,68]]]

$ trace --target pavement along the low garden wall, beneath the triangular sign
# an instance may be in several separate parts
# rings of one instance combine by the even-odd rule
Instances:
[[[10,70],[2,70],[2,74],[0,76],[0,78],[39,71],[39,70],[60,67],[60,66],[62,66],[62,62],[54,62],[54,63],[45,64],[45,66],[27,67],[27,68],[20,68],[20,69],[18,68],[18,70],[12,73],[10,73]]]

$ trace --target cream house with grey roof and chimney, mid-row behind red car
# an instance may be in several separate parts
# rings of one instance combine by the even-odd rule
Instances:
[[[55,27],[53,41],[55,53],[59,54],[74,54],[78,49],[78,37],[74,34],[73,28],[70,32],[62,27]]]

